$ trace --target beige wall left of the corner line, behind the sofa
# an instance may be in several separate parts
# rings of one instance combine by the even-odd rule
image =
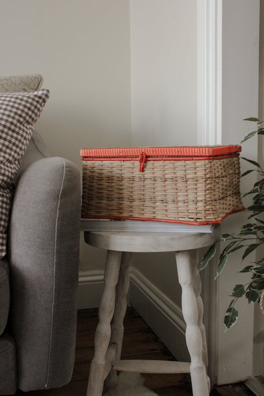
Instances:
[[[0,14],[0,75],[38,72],[51,91],[36,126],[50,153],[81,169],[80,148],[129,146],[129,0],[1,0]],[[80,269],[104,257],[82,243]]]

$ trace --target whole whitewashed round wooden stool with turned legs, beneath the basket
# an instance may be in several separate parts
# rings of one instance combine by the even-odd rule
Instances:
[[[210,233],[84,232],[87,244],[107,249],[105,288],[99,307],[95,354],[91,363],[87,396],[102,396],[104,381],[106,380],[107,388],[107,381],[117,379],[116,370],[190,373],[193,395],[209,396],[207,342],[203,324],[201,280],[197,269],[198,250],[212,245],[219,234],[219,226],[214,226]],[[191,362],[120,360],[132,253],[162,251],[175,251],[178,278],[182,288],[186,344]]]

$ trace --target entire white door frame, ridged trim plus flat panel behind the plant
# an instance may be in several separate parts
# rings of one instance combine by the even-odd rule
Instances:
[[[259,6],[259,0],[197,0],[198,144],[239,143],[246,132],[242,119],[258,114]],[[245,83],[248,78],[250,83]],[[250,142],[243,154],[257,160],[256,145]],[[239,225],[240,217],[234,216],[222,223],[223,232],[234,222]],[[222,324],[228,294],[243,266],[231,258],[217,281],[213,281],[215,265],[201,274],[210,375],[217,384],[253,374],[253,306],[240,305],[239,322],[226,333]]]

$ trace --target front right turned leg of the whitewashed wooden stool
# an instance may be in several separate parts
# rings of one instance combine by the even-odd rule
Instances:
[[[179,283],[182,287],[182,313],[186,322],[186,344],[191,356],[190,374],[193,396],[209,396],[205,355],[205,333],[202,336],[203,302],[198,296],[197,252],[175,252]],[[194,279],[195,278],[195,279]],[[202,329],[202,332],[201,332]],[[204,346],[204,347],[203,347]],[[205,358],[205,357],[204,357]]]

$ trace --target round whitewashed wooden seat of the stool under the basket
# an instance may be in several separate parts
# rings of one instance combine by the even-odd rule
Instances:
[[[84,232],[88,245],[107,250],[161,252],[191,250],[211,246],[220,236],[220,225],[211,232]]]

